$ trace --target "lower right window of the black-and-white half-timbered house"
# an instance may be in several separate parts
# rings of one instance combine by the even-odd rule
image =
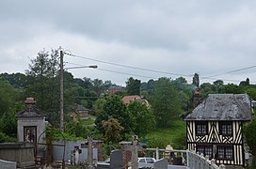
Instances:
[[[220,148],[223,148],[223,157],[219,157]],[[229,150],[231,150],[232,153],[229,152]],[[233,146],[232,145],[217,145],[216,146],[216,159],[217,160],[233,160],[234,159],[233,155],[234,154],[233,154]]]

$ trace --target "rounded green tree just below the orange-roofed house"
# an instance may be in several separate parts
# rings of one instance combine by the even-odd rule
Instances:
[[[152,131],[155,120],[149,107],[135,100],[128,104],[128,111],[132,115],[132,131],[136,135],[143,137]]]

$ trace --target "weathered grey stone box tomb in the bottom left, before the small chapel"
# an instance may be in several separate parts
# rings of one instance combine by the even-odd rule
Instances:
[[[2,143],[0,144],[0,159],[16,161],[17,167],[24,168],[35,164],[35,145],[32,143]]]

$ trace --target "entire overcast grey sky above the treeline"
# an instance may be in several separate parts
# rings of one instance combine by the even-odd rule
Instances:
[[[0,73],[24,73],[29,58],[61,46],[79,56],[65,55],[66,67],[98,65],[71,69],[78,78],[191,82],[198,72],[201,83],[256,84],[255,0],[1,0],[0,25]]]

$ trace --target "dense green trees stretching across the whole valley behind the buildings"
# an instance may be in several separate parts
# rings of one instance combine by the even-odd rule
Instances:
[[[26,97],[36,98],[38,107],[46,113],[46,120],[56,129],[58,128],[60,80],[58,59],[56,50],[42,51],[31,60],[25,74],[0,74],[1,142],[16,138],[15,115],[24,109]],[[183,115],[191,113],[196,88],[200,89],[200,100],[210,93],[248,93],[251,99],[256,100],[256,84],[250,84],[249,79],[240,84],[224,84],[222,80],[216,80],[212,84],[200,84],[199,74],[195,73],[192,81],[188,84],[184,77],[177,79],[161,77],[158,80],[141,83],[140,80],[130,77],[127,79],[124,90],[110,95],[107,89],[116,85],[111,81],[92,80],[88,77],[74,78],[71,72],[64,71],[65,134],[83,138],[92,134],[97,135],[99,139],[107,138],[107,142],[113,143],[130,138],[132,134],[138,135],[139,138],[146,138],[155,127],[156,129],[174,128],[171,127],[173,120],[181,120]],[[149,101],[149,105],[139,101],[132,101],[125,105],[121,100],[124,95],[143,96]],[[96,116],[95,128],[92,127],[93,125],[88,127],[79,119],[78,121],[70,120],[75,104],[81,104],[91,110],[91,115]],[[255,121],[245,128],[248,143],[250,139],[255,141],[255,138],[250,138],[251,135],[246,134],[256,130],[254,123]],[[123,130],[117,131],[117,126]],[[174,146],[182,148],[184,138],[185,133],[181,132],[173,140]],[[166,138],[162,140],[151,138],[150,145],[162,147],[168,142],[164,139]],[[252,143],[248,145],[254,151],[255,144]]]

